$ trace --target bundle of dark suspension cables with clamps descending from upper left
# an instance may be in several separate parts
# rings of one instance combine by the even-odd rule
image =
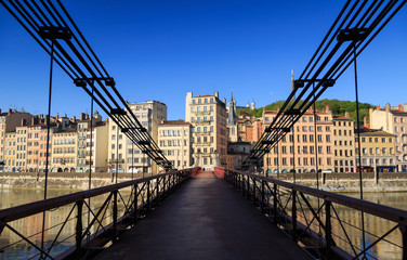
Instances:
[[[0,0],[9,13],[141,151],[166,170],[171,161],[135,117],[61,0]],[[52,53],[52,47],[55,48]]]

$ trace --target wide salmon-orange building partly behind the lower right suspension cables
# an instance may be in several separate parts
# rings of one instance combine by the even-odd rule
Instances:
[[[263,127],[268,126],[276,115],[277,110],[264,110]],[[318,171],[333,172],[332,130],[332,114],[329,107],[326,107],[325,112],[316,112],[316,135],[313,110],[305,112],[292,131],[264,155],[265,172],[315,172],[317,168]]]

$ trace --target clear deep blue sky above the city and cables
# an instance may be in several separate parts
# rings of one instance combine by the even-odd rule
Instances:
[[[187,91],[215,90],[238,105],[285,100],[344,1],[63,1],[130,102],[158,100],[168,118],[185,115]],[[358,58],[359,100],[407,103],[407,6]],[[2,110],[47,113],[45,52],[0,6]],[[323,99],[355,100],[352,67]],[[52,114],[78,116],[90,98],[58,68]],[[96,107],[97,108],[97,107]]]

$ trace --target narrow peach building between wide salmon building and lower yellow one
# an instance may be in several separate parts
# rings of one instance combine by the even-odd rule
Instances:
[[[334,172],[356,172],[354,119],[345,116],[333,117]]]

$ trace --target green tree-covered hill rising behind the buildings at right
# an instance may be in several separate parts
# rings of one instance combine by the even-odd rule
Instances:
[[[285,101],[276,101],[270,105],[265,106],[266,110],[277,110],[277,108],[284,105]],[[340,101],[340,100],[320,100],[315,102],[316,110],[325,112],[325,107],[329,105],[333,116],[344,116],[345,112],[350,113],[350,117],[356,118],[356,102],[353,101]],[[369,116],[369,108],[375,106],[369,103],[359,103],[359,120],[363,123],[364,117]],[[249,114],[251,116],[261,117],[263,108],[250,109],[240,108],[237,109],[237,115],[242,113]],[[356,120],[355,120],[356,123]]]

